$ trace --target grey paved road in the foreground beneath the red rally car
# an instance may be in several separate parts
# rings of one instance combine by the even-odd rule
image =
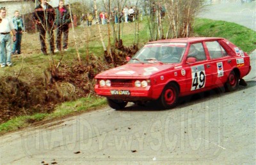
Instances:
[[[172,110],[106,107],[6,134],[0,164],[255,164],[255,73]]]

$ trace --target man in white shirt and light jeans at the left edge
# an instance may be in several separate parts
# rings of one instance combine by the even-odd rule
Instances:
[[[16,40],[16,31],[12,20],[6,18],[5,8],[0,8],[0,18],[2,19],[0,23],[0,66],[4,68],[7,66],[12,66],[11,62],[11,34],[13,33],[13,41]]]

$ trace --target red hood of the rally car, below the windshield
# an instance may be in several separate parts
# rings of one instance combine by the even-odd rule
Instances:
[[[117,68],[99,73],[95,78],[148,78],[177,64],[125,64]]]

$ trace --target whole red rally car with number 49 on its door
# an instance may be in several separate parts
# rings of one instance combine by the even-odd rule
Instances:
[[[251,70],[250,57],[225,38],[177,38],[147,43],[129,62],[95,79],[111,108],[157,101],[164,109],[180,96],[223,87],[236,90]]]

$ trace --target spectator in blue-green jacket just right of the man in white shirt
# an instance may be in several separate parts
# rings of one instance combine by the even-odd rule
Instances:
[[[22,38],[22,32],[24,31],[24,24],[22,18],[20,18],[20,12],[15,11],[14,17],[12,18],[14,29],[16,31],[16,41],[13,42],[12,54],[21,54],[20,44]]]

